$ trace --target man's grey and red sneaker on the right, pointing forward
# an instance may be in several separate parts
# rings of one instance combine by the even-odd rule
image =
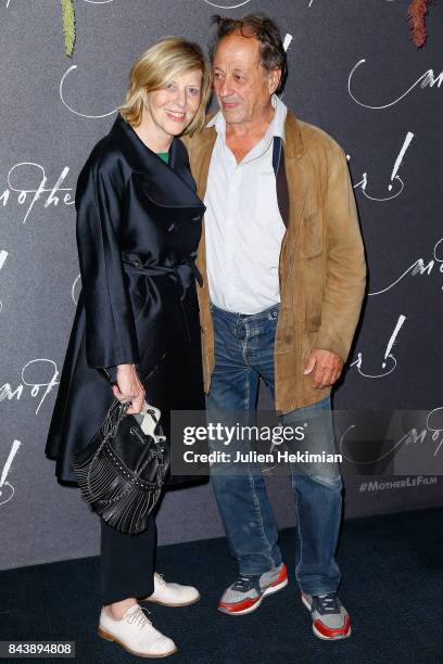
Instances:
[[[333,641],[351,636],[351,616],[337,592],[313,596],[302,592],[302,602],[311,611],[313,631],[319,639]]]

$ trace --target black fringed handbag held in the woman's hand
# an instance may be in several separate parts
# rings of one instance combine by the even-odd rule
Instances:
[[[112,527],[137,535],[148,527],[169,472],[169,447],[160,410],[144,405],[128,416],[115,399],[100,431],[73,455],[78,485],[92,510]]]

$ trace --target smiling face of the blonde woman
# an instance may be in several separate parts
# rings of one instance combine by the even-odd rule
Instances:
[[[178,136],[192,122],[200,105],[202,73],[176,76],[164,88],[150,92],[145,108],[148,128],[160,140]]]

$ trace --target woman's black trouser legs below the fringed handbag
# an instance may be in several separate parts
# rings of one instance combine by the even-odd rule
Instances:
[[[151,516],[140,535],[124,535],[101,521],[101,592],[103,604],[154,591],[156,526]]]

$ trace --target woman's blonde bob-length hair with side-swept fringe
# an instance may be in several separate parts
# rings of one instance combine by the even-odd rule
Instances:
[[[119,106],[122,117],[137,127],[141,123],[143,106],[150,92],[160,90],[175,76],[199,69],[202,86],[199,108],[185,133],[192,136],[204,127],[206,106],[211,98],[211,69],[198,43],[182,37],[160,39],[134,63],[125,103]]]

